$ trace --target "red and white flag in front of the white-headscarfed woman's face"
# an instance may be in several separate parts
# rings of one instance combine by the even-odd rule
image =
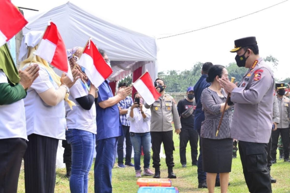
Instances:
[[[66,46],[56,25],[52,22],[47,26],[35,54],[61,71],[68,73],[70,70],[68,57],[66,55]]]

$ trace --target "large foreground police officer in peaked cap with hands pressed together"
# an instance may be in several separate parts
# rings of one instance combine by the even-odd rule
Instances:
[[[249,192],[272,192],[270,172],[267,168],[267,144],[271,136],[273,72],[259,56],[255,37],[235,40],[235,60],[239,67],[249,70],[240,85],[222,78],[220,83],[230,93],[235,104],[231,123],[231,138],[239,140],[239,152]],[[269,102],[270,101],[270,102]]]

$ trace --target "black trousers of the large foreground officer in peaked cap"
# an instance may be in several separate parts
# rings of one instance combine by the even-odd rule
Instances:
[[[251,193],[271,193],[267,144],[239,141],[244,177]]]

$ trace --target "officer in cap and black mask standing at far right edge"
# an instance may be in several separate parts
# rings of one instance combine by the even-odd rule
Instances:
[[[289,159],[290,99],[284,95],[286,89],[284,82],[276,83],[275,88],[277,91],[278,106],[280,111],[280,123],[277,126],[277,130],[272,131],[272,149],[271,149],[272,163],[276,163],[279,135],[281,135],[283,143],[284,162],[290,162]]]

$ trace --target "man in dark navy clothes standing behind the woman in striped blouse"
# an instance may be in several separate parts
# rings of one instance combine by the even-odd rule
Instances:
[[[202,71],[201,71],[201,77],[194,85],[194,98],[196,102],[196,109],[195,109],[195,115],[194,115],[194,126],[193,128],[197,130],[199,134],[200,139],[200,129],[201,129],[201,123],[204,121],[204,112],[202,111],[202,104],[201,104],[201,93],[202,91],[209,87],[211,84],[209,82],[206,82],[207,73],[212,67],[213,64],[211,62],[206,62],[202,65]],[[202,170],[202,149],[201,149],[201,143],[200,144],[200,154],[198,156],[197,160],[197,179],[198,179],[198,188],[207,188],[206,185],[206,172]]]

